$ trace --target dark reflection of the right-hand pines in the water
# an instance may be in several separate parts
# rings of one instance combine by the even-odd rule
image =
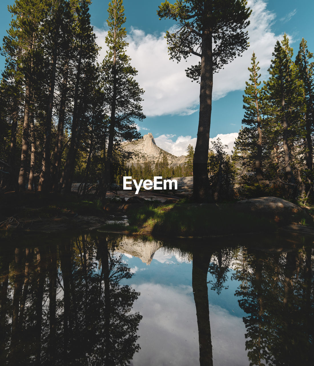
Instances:
[[[235,295],[246,326],[250,365],[313,365],[311,247],[288,253],[242,251]]]

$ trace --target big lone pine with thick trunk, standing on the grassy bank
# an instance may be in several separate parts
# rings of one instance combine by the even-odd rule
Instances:
[[[209,201],[207,160],[211,125],[213,72],[240,56],[248,47],[249,8],[245,0],[178,0],[159,6],[160,18],[178,23],[178,31],[166,34],[170,58],[180,61],[191,54],[201,58],[188,68],[192,80],[200,79],[200,116],[193,164],[193,197]]]

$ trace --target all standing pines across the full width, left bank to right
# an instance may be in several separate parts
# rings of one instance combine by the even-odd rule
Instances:
[[[200,98],[195,153],[189,146],[188,163],[175,169],[166,156],[157,164],[131,165],[130,153],[121,144],[141,137],[136,123],[145,118],[144,90],[127,56],[124,7],[122,0],[109,3],[107,52],[99,64],[90,3],[45,0],[35,1],[34,6],[20,0],[9,7],[12,21],[1,48],[5,56],[0,85],[1,191],[68,194],[78,181],[81,194],[92,186],[97,197],[105,197],[110,185],[121,183],[124,175],[151,179],[193,174],[197,202],[230,199],[234,184],[244,197],[313,200],[314,63],[304,38],[295,57],[286,34],[277,41],[266,81],[259,73],[258,50],[253,52],[243,96],[245,127],[232,156],[220,141],[208,147],[212,82],[204,79],[207,71],[202,61],[186,70],[192,81],[200,82],[200,90],[210,94],[206,100]],[[243,1],[231,3],[238,4],[233,10],[239,16],[230,20],[229,39],[219,33],[229,10],[215,20],[212,58],[207,61],[206,22],[197,20],[203,19],[201,10],[193,7],[193,1],[181,4],[184,12],[168,1],[162,3],[160,19],[174,19],[181,27],[166,34],[170,58],[179,62],[190,54],[200,56],[212,77],[240,56],[248,47],[249,35],[243,29],[249,24],[250,10]],[[211,11],[205,5],[202,11]],[[186,34],[189,27],[192,30]],[[199,45],[202,53],[195,51]]]

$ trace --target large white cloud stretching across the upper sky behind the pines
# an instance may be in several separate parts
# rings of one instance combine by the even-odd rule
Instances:
[[[281,36],[270,31],[275,14],[266,9],[265,0],[249,0],[248,6],[253,10],[248,27],[250,47],[242,54],[243,57],[237,57],[214,75],[214,100],[230,91],[244,90],[253,51],[260,61],[262,78],[267,78],[272,52],[277,38]],[[98,59],[101,62],[107,50],[107,30],[95,27],[94,31],[98,44],[102,46]],[[126,52],[132,59],[132,66],[138,70],[136,81],[145,90],[143,112],[147,116],[189,115],[197,111],[200,86],[186,77],[185,69],[199,59],[191,56],[187,62],[182,60],[178,64],[170,61],[164,35],[145,34],[143,30],[134,28],[128,31],[129,47]]]

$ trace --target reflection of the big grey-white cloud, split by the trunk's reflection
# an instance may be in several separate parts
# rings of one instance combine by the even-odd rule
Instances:
[[[143,319],[138,335],[141,350],[133,365],[199,364],[198,329],[192,287],[160,284],[132,285],[140,291],[133,311]],[[245,326],[242,318],[230,315],[222,307],[209,305],[214,366],[245,366]]]

